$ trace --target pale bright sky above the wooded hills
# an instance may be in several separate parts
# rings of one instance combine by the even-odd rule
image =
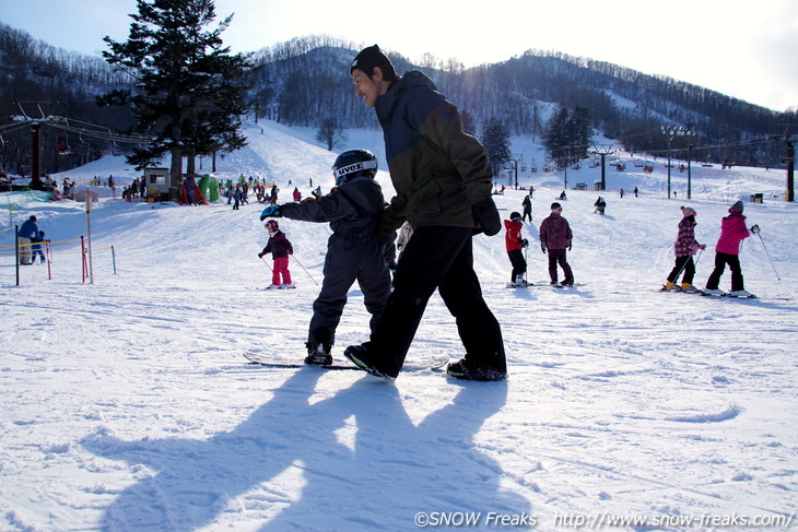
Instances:
[[[234,51],[312,34],[377,43],[418,60],[424,52],[467,67],[529,48],[630,67],[776,110],[798,106],[795,0],[216,0]],[[401,7],[400,7],[401,5]],[[473,5],[482,5],[474,8]],[[124,40],[136,0],[2,0],[0,21],[81,52]]]

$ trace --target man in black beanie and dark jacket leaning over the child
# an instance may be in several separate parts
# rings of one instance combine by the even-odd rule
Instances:
[[[374,375],[396,378],[437,288],[466,347],[447,373],[471,380],[506,378],[502,331],[473,271],[472,236],[501,229],[484,147],[462,131],[457,107],[429,78],[418,71],[398,76],[376,45],[357,55],[350,73],[355,95],[377,113],[397,193],[380,221],[380,238],[404,221],[414,230],[371,340],[344,355]]]

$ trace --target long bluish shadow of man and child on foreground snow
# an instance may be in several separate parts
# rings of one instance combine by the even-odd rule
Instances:
[[[263,531],[403,531],[420,511],[529,513],[526,499],[500,493],[501,466],[473,448],[506,383],[463,386],[416,426],[397,387],[372,377],[312,403],[320,375],[296,371],[235,429],[208,440],[84,438],[95,454],[155,471],[116,498],[104,529],[195,530],[251,511]],[[302,476],[298,499],[272,484],[286,471]]]

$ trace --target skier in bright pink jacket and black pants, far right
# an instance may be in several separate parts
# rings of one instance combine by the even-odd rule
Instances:
[[[742,240],[751,236],[751,233],[759,233],[759,225],[754,225],[749,229],[746,227],[746,216],[742,215],[742,201],[738,201],[729,208],[729,215],[720,222],[720,238],[715,246],[715,270],[713,270],[709,279],[706,281],[704,294],[724,295],[724,291],[719,289],[720,275],[726,270],[726,264],[731,270],[731,292],[732,297],[752,297],[753,294],[747,292],[742,280],[742,269],[740,268],[740,244]]]

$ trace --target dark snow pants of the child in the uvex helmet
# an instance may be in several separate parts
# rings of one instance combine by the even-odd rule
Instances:
[[[327,241],[321,292],[313,302],[313,318],[308,342],[331,346],[336,329],[341,321],[347,293],[355,281],[363,292],[363,303],[372,315],[371,327],[383,311],[390,295],[390,273],[385,263],[384,250],[376,235],[333,233]]]

